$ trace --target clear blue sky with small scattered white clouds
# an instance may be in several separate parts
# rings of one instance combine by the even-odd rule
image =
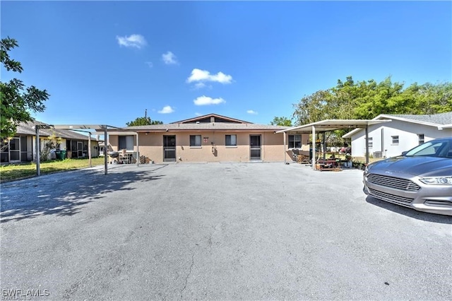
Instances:
[[[35,118],[125,126],[291,117],[338,79],[452,77],[451,1],[1,1],[1,37],[51,94]]]

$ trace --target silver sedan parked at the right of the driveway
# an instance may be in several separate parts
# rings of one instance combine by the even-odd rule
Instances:
[[[452,137],[369,164],[364,192],[417,211],[452,216]]]

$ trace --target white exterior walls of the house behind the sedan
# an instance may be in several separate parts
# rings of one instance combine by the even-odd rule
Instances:
[[[383,129],[383,139],[381,138]],[[419,144],[418,134],[424,134],[424,141],[435,138],[452,136],[452,129],[439,130],[436,126],[402,122],[393,119],[384,125],[369,126],[369,138],[372,138],[373,146],[369,148],[369,155],[374,152],[382,152],[386,158],[400,155]],[[364,157],[366,155],[366,133],[364,129],[352,136],[352,155]],[[398,145],[392,143],[392,136],[398,136]]]

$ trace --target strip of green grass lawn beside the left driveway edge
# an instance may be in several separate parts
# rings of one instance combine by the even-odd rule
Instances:
[[[93,166],[103,165],[104,157],[93,158]],[[90,166],[89,159],[65,159],[49,160],[40,163],[41,175],[53,172],[64,172],[65,170],[78,170]],[[18,163],[10,165],[0,165],[0,182],[8,182],[14,179],[34,177],[36,175],[36,163]]]

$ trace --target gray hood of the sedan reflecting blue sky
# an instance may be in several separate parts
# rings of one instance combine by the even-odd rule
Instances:
[[[370,172],[374,170],[385,170],[421,177],[444,177],[452,175],[451,158],[398,156],[372,163],[369,167],[371,167]]]

